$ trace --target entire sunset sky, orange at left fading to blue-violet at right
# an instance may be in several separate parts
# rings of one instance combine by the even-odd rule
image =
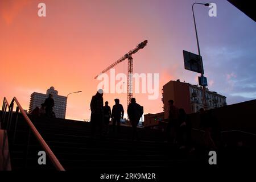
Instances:
[[[46,3],[46,17],[38,3]],[[0,101],[18,98],[28,109],[30,94],[54,86],[68,97],[67,118],[89,119],[89,104],[99,81],[94,77],[143,40],[134,73],[159,73],[159,97],[134,94],[144,113],[162,111],[161,89],[170,80],[197,84],[197,73],[184,69],[183,49],[197,53],[190,0],[1,0]],[[202,1],[205,2],[205,1]],[[201,55],[210,90],[228,104],[256,98],[256,25],[228,1],[195,6]],[[210,3],[209,2],[209,3]],[[115,67],[127,73],[127,60]],[[108,72],[109,73],[109,72]],[[127,107],[127,94],[104,94]]]

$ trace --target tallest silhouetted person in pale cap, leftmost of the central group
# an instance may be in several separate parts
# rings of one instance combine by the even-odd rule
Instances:
[[[90,101],[90,122],[92,123],[92,137],[95,137],[96,128],[102,133],[103,125],[103,90],[99,89],[98,92],[92,97]]]

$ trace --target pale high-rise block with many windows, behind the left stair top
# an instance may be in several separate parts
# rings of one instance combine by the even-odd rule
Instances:
[[[56,118],[65,118],[67,97],[59,96],[58,91],[55,90],[53,86],[47,90],[46,94],[38,92],[31,94],[29,113],[31,113],[35,107],[40,108],[41,104],[44,103],[50,93],[52,94],[52,98],[54,100],[53,112],[55,113]]]

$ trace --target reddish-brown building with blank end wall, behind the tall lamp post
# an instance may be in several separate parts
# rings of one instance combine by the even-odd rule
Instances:
[[[191,85],[180,80],[170,81],[163,86],[162,102],[164,118],[168,118],[169,100],[174,100],[178,108],[183,108],[187,114],[196,113],[203,105],[203,88],[197,85]],[[226,105],[226,97],[212,92],[206,88],[206,98],[208,109],[222,107]]]

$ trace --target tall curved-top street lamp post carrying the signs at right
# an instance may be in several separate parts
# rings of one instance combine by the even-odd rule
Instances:
[[[201,77],[204,78],[204,67],[203,67],[203,60],[201,59],[201,53],[200,53],[200,47],[199,47],[199,40],[198,40],[198,35],[197,35],[197,29],[196,29],[196,19],[195,19],[195,14],[194,14],[194,5],[204,5],[204,6],[209,6],[209,3],[193,3],[192,5],[192,11],[193,11],[193,19],[194,19],[194,24],[195,24],[195,30],[196,30],[196,42],[197,42],[197,49],[198,49],[198,54],[199,54],[199,59],[201,63]],[[205,93],[205,86],[203,86],[203,104],[204,104],[204,109],[207,109],[207,101],[206,101],[206,93]]]

